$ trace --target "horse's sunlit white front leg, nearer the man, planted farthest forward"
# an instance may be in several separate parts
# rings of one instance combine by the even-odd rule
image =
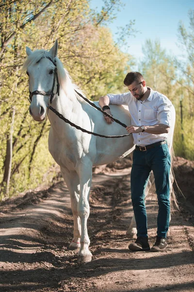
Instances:
[[[89,194],[92,183],[92,163],[88,159],[78,167],[80,176],[80,200],[78,203],[78,215],[81,219],[81,247],[78,253],[78,262],[89,262],[92,260],[92,254],[89,251],[90,239],[87,231],[87,219],[90,214]]]

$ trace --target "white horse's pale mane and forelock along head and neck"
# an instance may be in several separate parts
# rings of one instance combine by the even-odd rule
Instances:
[[[27,67],[30,66],[33,63],[38,62],[41,58],[49,56],[53,59],[53,57],[49,54],[48,51],[45,50],[35,50],[31,55],[29,55],[22,67],[22,71],[27,70]],[[72,99],[73,96],[76,96],[78,98],[78,94],[75,92],[79,91],[82,95],[84,93],[78,88],[77,85],[73,84],[71,81],[71,77],[67,70],[64,68],[63,63],[60,61],[58,57],[55,57],[56,59],[56,65],[57,65],[57,73],[60,83],[60,88],[63,89],[65,92],[65,95]]]

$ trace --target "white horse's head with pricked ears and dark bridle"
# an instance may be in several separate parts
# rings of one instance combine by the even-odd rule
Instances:
[[[26,47],[28,58],[24,63],[24,69],[29,76],[30,114],[35,121],[43,121],[46,118],[47,107],[57,92],[57,69],[55,57],[58,43],[55,41],[50,51],[32,50]],[[58,89],[59,94],[59,89]]]

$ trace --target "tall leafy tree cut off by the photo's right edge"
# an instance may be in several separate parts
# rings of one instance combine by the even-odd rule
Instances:
[[[180,96],[182,156],[194,160],[194,10],[191,9],[188,16],[190,23],[188,29],[179,22],[178,45],[183,54],[175,58],[175,67]],[[179,153],[181,153],[180,149]]]

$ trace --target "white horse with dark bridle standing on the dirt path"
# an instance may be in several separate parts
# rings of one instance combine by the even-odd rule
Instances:
[[[66,124],[55,113],[48,110],[50,95],[52,107],[66,119],[86,130],[102,135],[127,134],[127,130],[117,123],[108,125],[100,113],[84,101],[75,90],[71,78],[57,57],[58,43],[49,50],[32,50],[26,47],[28,55],[23,69],[29,75],[31,105],[30,114],[35,121],[43,121],[48,113],[50,121],[49,151],[60,165],[61,173],[71,197],[74,219],[74,236],[69,245],[71,250],[79,250],[78,261],[89,262],[90,239],[87,232],[89,217],[89,193],[92,183],[92,166],[108,164],[125,157],[134,149],[132,135],[124,138],[101,138]],[[56,63],[55,63],[56,62]],[[57,68],[58,78],[56,78]],[[57,88],[57,79],[60,90]],[[45,92],[46,91],[46,92]],[[83,94],[83,93],[81,93]],[[95,102],[98,106],[98,102]],[[130,125],[129,110],[123,106],[111,105],[113,116]],[[173,132],[173,129],[171,128]],[[172,135],[173,136],[173,135]],[[172,136],[169,146],[172,146]],[[129,232],[128,232],[129,233]],[[133,230],[134,233],[134,230]]]

